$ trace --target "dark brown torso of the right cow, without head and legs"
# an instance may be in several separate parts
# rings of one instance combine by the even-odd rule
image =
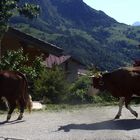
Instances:
[[[114,96],[140,93],[140,67],[125,67],[103,75],[107,90]]]

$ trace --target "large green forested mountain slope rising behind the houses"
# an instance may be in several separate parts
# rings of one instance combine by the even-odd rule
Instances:
[[[82,63],[113,70],[140,58],[137,47],[140,27],[118,23],[83,0],[39,0],[34,3],[41,7],[39,18],[29,21],[14,17],[11,19],[13,26],[62,47]]]

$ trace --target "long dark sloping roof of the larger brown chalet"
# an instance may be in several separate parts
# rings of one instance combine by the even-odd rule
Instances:
[[[40,39],[37,39],[29,34],[23,33],[12,27],[9,27],[6,34],[10,34],[10,35],[20,39],[21,41],[24,41],[25,43],[34,45],[36,48],[38,48],[44,52],[48,52],[48,53],[54,54],[56,56],[60,56],[63,53],[63,49],[57,47],[56,45],[53,45],[48,42],[44,42]]]

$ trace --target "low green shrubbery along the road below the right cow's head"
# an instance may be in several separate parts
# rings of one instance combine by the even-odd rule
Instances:
[[[95,96],[88,96],[87,91],[91,82],[88,76],[82,76],[73,83],[69,88],[69,101],[71,103],[114,103],[117,101],[106,91],[99,92]]]

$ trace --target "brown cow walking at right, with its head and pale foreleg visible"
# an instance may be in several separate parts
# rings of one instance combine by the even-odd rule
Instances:
[[[92,78],[93,86],[101,91],[107,90],[114,97],[119,97],[119,111],[115,119],[119,119],[123,104],[135,116],[138,113],[134,111],[129,103],[134,95],[140,96],[140,67],[125,67],[110,73],[105,73]]]

